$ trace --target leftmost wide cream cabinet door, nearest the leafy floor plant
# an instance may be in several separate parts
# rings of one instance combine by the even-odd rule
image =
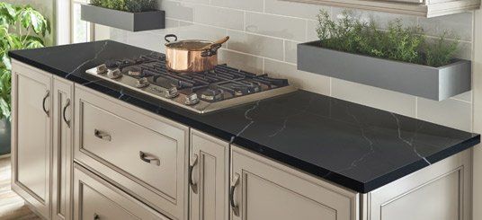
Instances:
[[[49,218],[51,75],[13,62],[12,189]]]

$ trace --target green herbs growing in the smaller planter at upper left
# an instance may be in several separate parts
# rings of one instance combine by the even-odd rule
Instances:
[[[156,10],[157,0],[91,0],[91,4],[130,13]]]

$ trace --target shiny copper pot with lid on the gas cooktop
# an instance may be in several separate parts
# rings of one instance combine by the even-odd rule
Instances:
[[[174,39],[173,41],[169,39]],[[168,69],[182,73],[204,72],[218,65],[218,49],[229,40],[179,40],[174,34],[165,35],[165,64]]]

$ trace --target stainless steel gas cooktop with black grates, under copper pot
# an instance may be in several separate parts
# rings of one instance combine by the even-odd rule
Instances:
[[[165,68],[164,54],[108,60],[86,73],[198,113],[296,91],[286,79],[254,75],[225,65],[202,73],[175,73]]]

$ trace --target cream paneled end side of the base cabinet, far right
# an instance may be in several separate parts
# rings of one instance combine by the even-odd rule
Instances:
[[[362,195],[362,219],[470,220],[471,150]]]

